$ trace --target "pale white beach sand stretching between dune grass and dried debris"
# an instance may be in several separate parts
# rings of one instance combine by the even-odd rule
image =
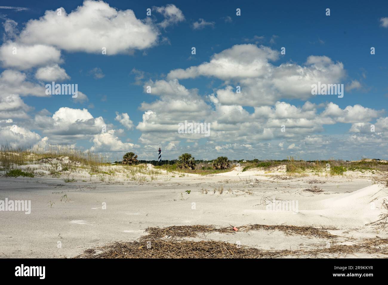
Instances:
[[[388,199],[388,189],[372,184],[368,173],[279,180],[279,176],[285,175],[284,168],[272,169],[272,173],[238,169],[217,175],[186,174],[184,177],[161,171],[162,174],[147,175],[148,181],[131,181],[119,173],[111,176],[110,181],[108,175],[105,181],[100,181],[99,176],[90,176],[82,169],[76,173],[64,172],[61,178],[51,178],[45,172],[48,169],[44,169],[50,165],[42,165],[23,168],[34,168],[35,173],[43,176],[0,177],[0,200],[31,200],[32,208],[31,214],[0,212],[0,257],[73,257],[90,247],[139,238],[145,235],[144,229],[148,226],[323,226],[337,228],[329,232],[353,237],[355,241],[388,237],[387,231],[366,226],[386,212],[381,204],[383,199]],[[111,169],[120,169],[120,166]],[[147,169],[152,170],[152,167]],[[274,175],[277,176],[271,177]],[[76,182],[65,183],[64,178],[68,176],[74,177]],[[151,176],[154,176],[152,180]],[[312,179],[325,181],[324,184],[312,184],[324,192],[303,191],[312,186],[308,183]],[[219,193],[221,187],[223,192]],[[215,188],[217,191],[213,193]],[[202,189],[207,189],[208,193],[201,193]],[[185,193],[186,190],[191,193]],[[63,198],[61,202],[65,194],[67,199]],[[265,201],[272,199],[297,201],[298,209],[270,211]],[[51,203],[54,204],[50,207]],[[103,209],[104,205],[106,209]],[[205,238],[240,242],[265,250],[314,249],[333,242],[286,235],[277,230],[199,234],[195,240]],[[338,242],[348,241],[343,238]],[[327,257],[338,257],[338,254]],[[354,254],[340,257],[382,256]]]

